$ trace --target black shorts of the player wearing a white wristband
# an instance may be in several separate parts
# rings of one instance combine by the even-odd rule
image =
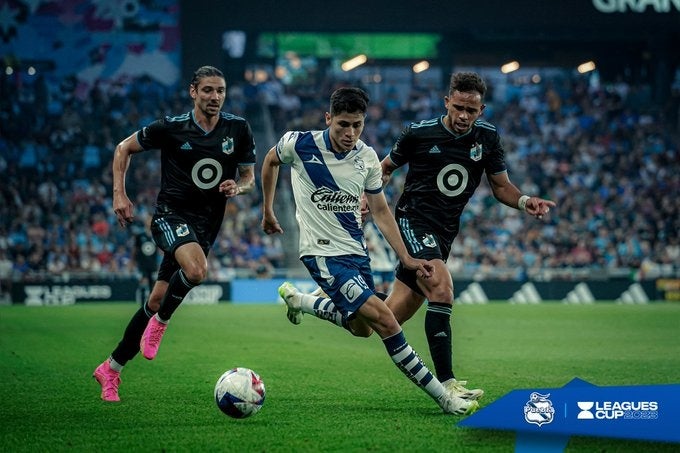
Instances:
[[[454,237],[436,233],[428,223],[397,215],[397,224],[406,249],[414,258],[424,260],[441,259],[446,262],[451,252]],[[396,278],[416,293],[424,296],[418,287],[416,271],[397,264]]]

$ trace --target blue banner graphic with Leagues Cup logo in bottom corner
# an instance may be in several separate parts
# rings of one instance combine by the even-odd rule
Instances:
[[[458,426],[517,431],[515,451],[562,451],[569,436],[680,443],[680,384],[514,390]]]

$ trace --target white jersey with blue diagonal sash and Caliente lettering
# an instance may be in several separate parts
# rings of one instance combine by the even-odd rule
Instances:
[[[291,165],[300,256],[365,256],[361,195],[382,191],[375,150],[359,140],[351,151],[337,153],[326,129],[287,132],[276,153]]]

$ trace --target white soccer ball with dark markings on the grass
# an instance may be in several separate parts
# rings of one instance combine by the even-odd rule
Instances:
[[[232,418],[255,415],[264,404],[264,394],[264,382],[249,368],[233,368],[215,384],[217,407]]]

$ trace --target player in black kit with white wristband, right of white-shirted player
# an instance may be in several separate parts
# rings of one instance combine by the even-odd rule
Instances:
[[[401,324],[427,299],[425,334],[435,372],[445,387],[467,399],[478,399],[483,391],[468,390],[453,373],[453,281],[446,266],[461,213],[484,173],[494,197],[507,206],[539,219],[555,206],[523,194],[510,182],[498,131],[479,119],[485,94],[478,74],[453,74],[444,97],[446,114],[407,126],[381,162],[385,184],[397,168],[408,165],[395,217],[409,253],[430,260],[435,268],[430,278],[420,279],[399,263],[386,303]]]

